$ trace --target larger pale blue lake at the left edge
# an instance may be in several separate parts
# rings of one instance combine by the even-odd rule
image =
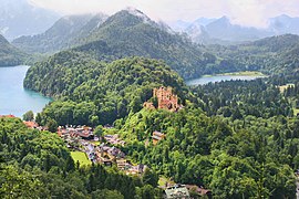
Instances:
[[[29,66],[0,67],[0,115],[12,114],[17,117],[28,111],[41,112],[51,98],[23,88],[23,80]]]

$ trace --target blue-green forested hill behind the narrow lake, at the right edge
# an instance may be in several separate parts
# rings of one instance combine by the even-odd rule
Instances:
[[[221,70],[262,71],[266,74],[292,73],[299,65],[299,36],[285,34],[247,44],[210,46],[215,55],[224,59],[214,73]],[[220,71],[219,71],[220,70]]]

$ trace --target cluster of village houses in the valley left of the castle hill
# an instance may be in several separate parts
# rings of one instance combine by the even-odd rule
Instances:
[[[125,154],[115,147],[125,145],[125,142],[117,134],[104,135],[107,144],[96,144],[95,142],[99,138],[93,135],[93,129],[87,126],[59,127],[58,135],[66,142],[69,148],[84,151],[93,163],[105,166],[116,165],[120,170],[127,175],[141,175],[146,169],[145,165],[133,165],[125,158]]]

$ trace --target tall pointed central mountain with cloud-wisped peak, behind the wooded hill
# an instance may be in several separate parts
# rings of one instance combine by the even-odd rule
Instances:
[[[74,50],[93,54],[96,60],[132,55],[162,59],[184,78],[206,73],[206,65],[216,61],[203,46],[171,33],[137,10],[115,13],[81,43]]]

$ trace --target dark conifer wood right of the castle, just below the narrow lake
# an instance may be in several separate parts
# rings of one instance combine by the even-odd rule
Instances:
[[[226,81],[192,88],[199,107],[208,115],[223,115],[241,119],[244,116],[269,118],[292,116],[292,106],[279,87],[262,78],[255,81]]]

